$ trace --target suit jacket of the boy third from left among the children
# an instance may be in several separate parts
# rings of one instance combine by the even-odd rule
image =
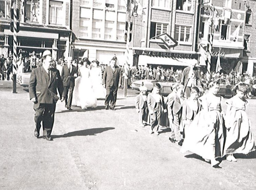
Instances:
[[[172,93],[167,96],[167,99],[168,117],[173,119],[173,115],[178,114],[182,109],[180,98],[172,91]]]

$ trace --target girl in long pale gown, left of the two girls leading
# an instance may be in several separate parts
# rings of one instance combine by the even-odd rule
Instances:
[[[224,156],[224,120],[222,97],[217,95],[219,84],[210,82],[209,90],[199,98],[201,110],[187,129],[181,152],[191,151],[210,161],[212,167],[219,164],[216,158]]]

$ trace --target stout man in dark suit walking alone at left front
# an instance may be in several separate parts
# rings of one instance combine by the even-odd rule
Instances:
[[[59,71],[51,68],[52,54],[49,50],[44,51],[42,55],[42,67],[34,68],[31,72],[29,81],[29,97],[34,103],[35,116],[34,121],[36,128],[34,136],[39,137],[41,128],[41,121],[43,124],[43,139],[52,141],[50,137],[54,123],[54,112],[57,96],[57,89],[59,96],[63,93],[63,83]]]

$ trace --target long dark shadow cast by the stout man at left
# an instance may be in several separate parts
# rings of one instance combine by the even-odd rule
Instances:
[[[92,129],[84,129],[80,131],[73,131],[66,133],[64,135],[51,135],[53,139],[58,139],[58,138],[66,138],[66,137],[75,137],[75,136],[92,136],[96,135],[99,133],[103,133],[105,131],[113,130],[115,129],[114,127],[105,127],[105,128],[92,128]]]

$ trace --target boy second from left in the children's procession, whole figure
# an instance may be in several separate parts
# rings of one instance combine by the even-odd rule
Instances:
[[[166,112],[166,106],[162,95],[160,95],[160,90],[161,85],[157,83],[153,87],[152,92],[147,95],[147,105],[151,116],[151,129],[149,130],[149,133],[155,133],[155,135],[159,135],[158,129],[160,125],[161,112]]]

